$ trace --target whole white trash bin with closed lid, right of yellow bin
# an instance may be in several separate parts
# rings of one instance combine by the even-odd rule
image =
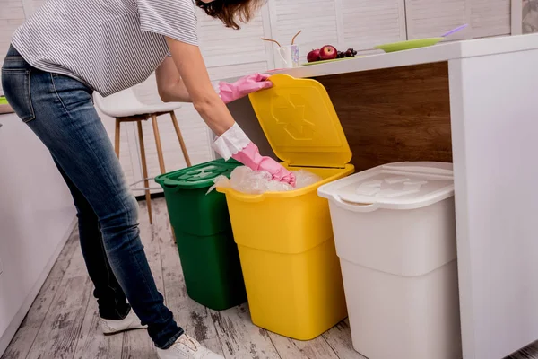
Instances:
[[[355,350],[461,359],[452,164],[387,164],[318,195],[329,199]]]

